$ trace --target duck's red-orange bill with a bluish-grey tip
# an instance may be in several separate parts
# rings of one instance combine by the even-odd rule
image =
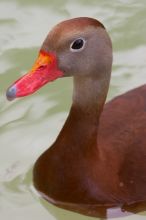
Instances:
[[[6,92],[8,100],[30,95],[46,83],[63,76],[54,54],[40,51],[31,71],[18,79]]]

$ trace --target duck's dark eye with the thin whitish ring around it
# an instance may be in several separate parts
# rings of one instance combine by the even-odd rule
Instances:
[[[81,50],[84,49],[85,43],[86,43],[85,39],[80,37],[71,43],[70,50],[72,52],[80,52]]]

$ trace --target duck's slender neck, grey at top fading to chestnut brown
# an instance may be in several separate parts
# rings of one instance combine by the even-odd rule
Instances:
[[[59,135],[59,143],[70,147],[72,144],[74,150],[97,146],[98,122],[108,85],[109,80],[74,78],[73,104]]]

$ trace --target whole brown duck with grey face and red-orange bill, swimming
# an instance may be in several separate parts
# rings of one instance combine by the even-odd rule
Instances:
[[[12,100],[59,77],[74,77],[69,116],[37,160],[33,180],[51,203],[92,216],[146,201],[146,85],[104,106],[111,67],[104,26],[75,18],[54,27],[32,70],[7,90]]]

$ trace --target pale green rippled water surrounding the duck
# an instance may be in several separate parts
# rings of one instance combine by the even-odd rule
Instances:
[[[145,0],[0,0],[0,219],[94,219],[44,202],[31,181],[35,160],[65,121],[72,80],[60,79],[14,102],[5,98],[6,88],[30,69],[50,28],[77,16],[99,19],[112,38],[108,99],[146,82]],[[141,213],[124,219],[145,218]]]

